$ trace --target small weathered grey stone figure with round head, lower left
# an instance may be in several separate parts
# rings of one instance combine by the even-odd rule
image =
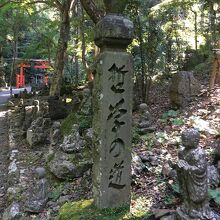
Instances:
[[[31,213],[40,213],[46,206],[48,200],[48,183],[45,178],[46,171],[43,167],[36,169],[38,181],[36,182],[33,196],[25,205],[25,211]]]

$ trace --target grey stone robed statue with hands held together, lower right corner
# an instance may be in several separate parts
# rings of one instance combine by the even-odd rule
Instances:
[[[195,129],[182,133],[184,148],[179,151],[177,175],[183,205],[177,209],[180,220],[217,220],[208,203],[207,161],[199,146],[200,134]]]

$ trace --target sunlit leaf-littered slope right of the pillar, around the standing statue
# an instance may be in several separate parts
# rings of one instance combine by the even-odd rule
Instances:
[[[201,93],[181,110],[173,110],[169,103],[167,84],[155,86],[150,94],[149,111],[156,131],[140,136],[133,150],[147,157],[147,171],[140,174],[133,185],[132,205],[135,209],[142,198],[144,210],[153,216],[172,213],[180,204],[179,186],[170,164],[177,161],[181,144],[181,132],[187,127],[197,128],[201,133],[200,145],[205,150],[209,164],[213,162],[213,151],[220,136],[220,88],[208,91],[207,79],[201,80]],[[218,188],[219,189],[219,188]],[[136,198],[139,198],[135,201]],[[219,203],[220,204],[220,203]],[[211,201],[211,206],[220,213],[220,205]]]

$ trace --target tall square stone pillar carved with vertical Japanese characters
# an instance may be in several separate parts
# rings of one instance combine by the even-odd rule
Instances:
[[[95,30],[101,53],[93,87],[93,193],[101,209],[130,206],[133,66],[126,48],[133,23],[120,14],[124,2],[104,1],[107,15]]]

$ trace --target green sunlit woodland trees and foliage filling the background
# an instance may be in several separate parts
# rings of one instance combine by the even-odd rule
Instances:
[[[0,4],[0,56],[8,85],[15,84],[16,65],[25,59],[47,59],[50,78],[63,75],[62,82],[56,78],[59,86],[52,85],[53,95],[91,80],[98,53],[94,22],[104,9],[102,1],[81,2],[92,20],[78,0]],[[139,102],[149,101],[152,82],[178,70],[209,74],[212,49],[219,46],[219,11],[218,0],[130,1],[125,14],[135,24],[129,51]]]

